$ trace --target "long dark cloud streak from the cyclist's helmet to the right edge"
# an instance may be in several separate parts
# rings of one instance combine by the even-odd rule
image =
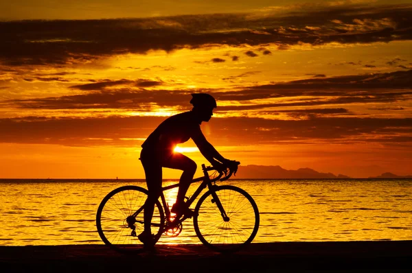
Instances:
[[[218,110],[258,110],[285,106],[404,102],[412,95],[412,70],[330,78],[309,78],[251,86],[242,91],[214,92],[221,101],[249,101],[305,96],[294,102],[220,106]],[[400,90],[403,89],[403,90]]]

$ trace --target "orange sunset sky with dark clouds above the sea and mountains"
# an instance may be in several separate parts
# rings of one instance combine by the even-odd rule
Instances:
[[[0,37],[0,178],[144,178],[200,92],[242,165],[412,174],[410,0],[1,1]]]

